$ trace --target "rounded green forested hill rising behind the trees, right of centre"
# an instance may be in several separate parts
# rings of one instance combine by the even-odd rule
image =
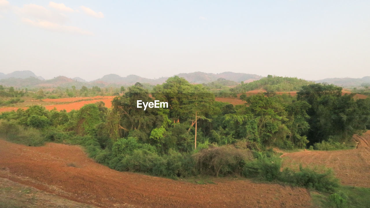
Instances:
[[[313,82],[298,79],[296,77],[277,77],[269,75],[251,83],[242,83],[232,89],[237,93],[245,93],[251,90],[262,89],[269,92],[299,91],[302,86],[313,84]]]

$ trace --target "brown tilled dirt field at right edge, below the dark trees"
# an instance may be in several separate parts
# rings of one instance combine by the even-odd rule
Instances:
[[[359,142],[354,150],[287,153],[283,155],[283,167],[300,163],[324,165],[333,168],[342,184],[370,188],[370,130],[353,139]]]

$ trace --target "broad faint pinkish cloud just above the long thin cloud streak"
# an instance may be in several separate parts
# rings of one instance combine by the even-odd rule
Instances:
[[[63,24],[68,20],[68,17],[64,14],[53,12],[37,4],[24,4],[21,8],[16,7],[14,12],[28,19],[46,20],[59,24]]]

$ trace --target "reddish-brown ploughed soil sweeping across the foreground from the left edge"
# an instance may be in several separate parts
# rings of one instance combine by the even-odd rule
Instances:
[[[75,166],[75,167],[73,167]],[[0,177],[98,207],[310,207],[306,189],[249,180],[192,184],[97,164],[78,146],[0,140]]]

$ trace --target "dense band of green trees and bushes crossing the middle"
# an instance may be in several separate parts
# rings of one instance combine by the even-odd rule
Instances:
[[[27,145],[83,145],[96,161],[120,171],[171,178],[233,174],[291,184],[305,175],[316,182],[298,185],[332,190],[337,182],[330,172],[281,172],[280,158],[268,147],[319,148],[322,141],[332,147],[369,128],[370,99],[354,101],[341,90],[310,84],[297,97],[256,94],[233,106],[216,102],[204,85],[175,76],[152,93],[140,83],[122,89],[111,109],[99,102],[70,113],[41,106],[3,113],[0,136]],[[169,108],[136,107],[137,100],[154,99]]]

